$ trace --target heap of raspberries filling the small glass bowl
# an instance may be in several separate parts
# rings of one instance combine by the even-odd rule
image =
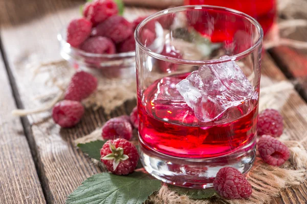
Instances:
[[[115,54],[135,50],[134,31],[145,17],[133,22],[119,15],[113,0],[95,0],[83,7],[82,17],[73,19],[67,28],[67,42],[87,53]],[[146,29],[150,43],[155,32]]]

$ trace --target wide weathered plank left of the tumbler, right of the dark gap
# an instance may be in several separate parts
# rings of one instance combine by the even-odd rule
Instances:
[[[31,0],[15,1],[15,4],[19,5],[12,6],[11,1],[2,2],[6,9],[1,10],[1,13],[7,15],[7,21],[1,24],[1,36],[11,68],[11,77],[16,80],[15,91],[19,96],[17,100],[20,101],[20,107],[40,106],[40,101],[34,99],[36,96],[57,90],[41,86],[49,79],[48,74],[39,74],[33,80],[31,65],[61,59],[57,33],[72,18],[80,16],[79,6],[82,3],[84,1]],[[15,7],[24,8],[25,13],[31,13],[31,18],[25,20],[26,16],[16,13]],[[69,9],[65,9],[68,7]],[[136,16],[131,11],[131,16],[134,15]],[[25,118],[29,123],[30,145],[37,150],[38,170],[44,178],[42,185],[48,202],[64,203],[67,196],[86,177],[100,172],[98,167],[76,149],[73,141],[91,133],[110,117],[129,113],[135,104],[135,101],[130,101],[110,116],[106,116],[102,109],[95,112],[87,110],[74,129],[60,129],[54,124],[50,112]]]

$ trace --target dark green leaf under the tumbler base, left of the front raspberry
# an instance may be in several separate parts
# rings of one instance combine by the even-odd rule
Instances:
[[[192,199],[204,199],[210,198],[216,195],[216,191],[213,188],[208,189],[189,189],[189,188],[181,188],[177,186],[168,186],[169,189],[176,191],[179,195],[187,195]]]

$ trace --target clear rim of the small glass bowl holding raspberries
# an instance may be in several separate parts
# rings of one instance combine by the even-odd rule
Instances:
[[[124,58],[124,57],[135,57],[136,52],[135,51],[130,51],[130,52],[125,52],[125,53],[115,53],[115,54],[96,54],[96,53],[87,53],[83,51],[82,49],[76,48],[71,46],[65,39],[66,35],[66,27],[61,29],[61,31],[57,34],[57,39],[60,43],[64,43],[66,46],[69,46],[73,52],[80,54],[82,57],[91,57],[91,58]]]

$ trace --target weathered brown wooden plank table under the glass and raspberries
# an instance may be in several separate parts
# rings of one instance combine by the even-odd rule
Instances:
[[[34,97],[46,92],[41,84],[48,75],[33,80],[29,64],[60,59],[56,34],[79,15],[82,3],[0,0],[0,203],[64,203],[86,177],[100,172],[73,141],[135,106],[129,101],[111,115],[86,110],[73,129],[60,129],[50,112],[21,119],[11,115],[16,108],[35,108]],[[127,8],[125,15],[153,11]],[[301,31],[291,37],[307,40]],[[271,49],[262,60],[262,80],[274,84],[289,79],[297,91],[283,93],[288,100],[281,112],[291,139],[300,140],[307,136],[307,55],[289,47]],[[307,203],[307,182],[282,191],[272,203]]]

